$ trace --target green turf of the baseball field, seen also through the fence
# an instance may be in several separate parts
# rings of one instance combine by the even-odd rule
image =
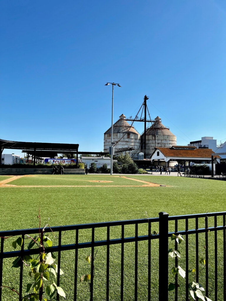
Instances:
[[[80,185],[74,183],[86,183],[87,180],[100,179],[103,176],[38,176],[23,177],[9,184],[14,185]],[[124,219],[144,218],[145,212],[149,217],[157,217],[160,211],[166,211],[169,215],[193,214],[226,211],[226,183],[224,181],[213,181],[196,178],[167,177],[136,175],[130,176],[145,181],[168,185],[167,187],[139,187],[140,182],[122,178],[106,176],[109,181],[119,181],[128,185],[138,185],[137,187],[54,187],[54,188],[23,188],[7,187],[0,188],[1,194],[1,230],[12,230],[18,228],[38,227],[37,213],[40,206],[42,225],[50,218],[49,223],[55,225],[70,225],[89,222],[105,222]],[[114,178],[114,179],[113,179]],[[34,179],[34,180],[33,180]],[[117,179],[117,180],[116,180]],[[102,180],[102,178],[101,178]],[[21,182],[25,181],[25,182]],[[44,183],[44,184],[37,184]],[[29,184],[27,184],[29,182]],[[36,183],[35,183],[36,182]],[[53,184],[53,183],[58,184]],[[59,184],[59,183],[73,184]],[[132,182],[132,183],[131,183]],[[21,184],[22,183],[22,184]],[[31,184],[33,183],[33,184]],[[34,184],[35,183],[35,184]],[[92,185],[110,185],[110,183],[92,183]],[[117,184],[118,185],[118,184]],[[200,227],[204,221],[200,219]],[[222,225],[221,219],[218,221]],[[213,226],[213,219],[209,219],[209,226]],[[189,228],[194,227],[194,221],[189,221]],[[170,231],[174,230],[174,225],[169,224]],[[179,230],[184,230],[184,223],[178,223]],[[110,238],[120,237],[120,228],[114,227],[111,230]],[[158,231],[157,225],[153,230]],[[219,231],[220,232],[220,231]],[[125,227],[125,237],[134,236],[135,228],[133,226]],[[147,224],[139,226],[139,235],[147,234]],[[209,233],[209,278],[214,280],[214,244],[213,232]],[[205,240],[204,234],[199,235],[200,256],[205,258]],[[96,231],[96,240],[106,239],[106,229],[101,228]],[[5,250],[12,250],[11,240],[6,241]],[[75,233],[68,232],[62,237],[62,244],[71,244],[75,240]],[[91,232],[89,230],[80,231],[79,242],[90,241]],[[27,243],[27,242],[26,242]],[[218,234],[218,300],[222,300],[222,233]],[[57,244],[57,239],[53,239],[53,244]],[[147,243],[138,244],[138,299],[147,300]],[[169,244],[169,247],[173,247]],[[180,266],[185,268],[184,250],[185,244],[180,245],[182,259]],[[194,236],[189,236],[189,267],[195,267],[195,240]],[[78,275],[89,272],[89,264],[84,260],[91,250],[79,250]],[[120,300],[120,253],[121,246],[110,247],[110,298],[111,300]],[[67,251],[61,254],[62,269],[65,274],[61,276],[61,286],[66,292],[66,300],[73,300],[73,277],[74,277],[74,252]],[[94,300],[105,300],[105,258],[106,248],[98,248],[95,260],[96,276],[94,278]],[[134,293],[134,243],[125,244],[124,256],[124,300],[133,300]],[[5,260],[7,266],[11,266],[12,259]],[[169,258],[169,267],[174,263]],[[158,241],[152,241],[152,300],[158,300]],[[5,266],[5,264],[4,264]],[[25,269],[26,270],[26,269]],[[3,284],[18,288],[18,279],[15,275],[18,271],[15,269],[4,269]],[[205,273],[200,275],[199,282],[205,287]],[[24,283],[29,279],[24,275]],[[184,300],[184,280],[180,277],[179,300]],[[212,282],[210,281],[210,284]],[[211,284],[212,285],[212,284]],[[210,289],[209,289],[210,291]],[[173,300],[174,293],[170,292],[170,300]],[[89,289],[84,283],[78,283],[78,300],[88,300]],[[209,296],[214,300],[214,294]],[[11,291],[3,290],[3,301],[17,300],[17,296]]]

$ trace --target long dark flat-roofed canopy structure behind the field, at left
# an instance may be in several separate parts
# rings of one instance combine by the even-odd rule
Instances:
[[[47,142],[21,142],[21,141],[9,141],[0,139],[0,155],[2,156],[3,150],[6,149],[18,149],[26,150],[27,155],[33,153],[35,165],[36,157],[45,157],[43,154],[46,151],[51,151],[51,154],[60,153],[71,153],[76,154],[76,165],[78,165],[78,147],[79,144],[69,144],[69,143],[47,143]],[[1,164],[0,160],[0,164]],[[77,167],[77,166],[76,166]]]

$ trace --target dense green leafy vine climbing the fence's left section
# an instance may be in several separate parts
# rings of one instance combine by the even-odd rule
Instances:
[[[44,301],[49,301],[55,299],[55,293],[57,292],[60,296],[65,298],[64,290],[61,287],[58,287],[55,282],[50,285],[45,286],[44,283],[49,281],[49,273],[52,273],[55,278],[58,272],[58,265],[55,264],[55,255],[51,252],[46,253],[46,249],[52,247],[52,240],[49,236],[44,235],[45,228],[49,226],[46,224],[45,227],[40,231],[40,213],[39,213],[39,235],[35,237],[31,237],[30,235],[25,234],[27,238],[30,238],[31,241],[29,242],[27,248],[30,250],[34,246],[39,248],[39,254],[36,258],[32,256],[24,256],[21,258],[20,256],[17,257],[12,265],[12,268],[19,268],[21,265],[25,265],[27,268],[30,268],[29,276],[31,278],[30,283],[27,284],[27,290],[25,296],[22,297],[23,301],[35,301],[40,300],[42,301],[43,294],[45,293],[49,298],[43,298]],[[51,229],[51,228],[50,228]],[[52,231],[52,229],[51,229]],[[53,231],[52,231],[53,233]],[[54,235],[54,233],[53,233]],[[11,236],[12,237],[12,236]],[[55,237],[55,236],[54,236]],[[9,237],[4,237],[5,239]],[[18,237],[17,240],[13,241],[12,246],[14,250],[17,247],[22,247],[23,238]],[[34,255],[35,257],[35,255]],[[60,275],[64,274],[64,272],[60,269]],[[17,290],[8,286],[2,286],[0,288],[8,288],[13,292],[20,295]]]

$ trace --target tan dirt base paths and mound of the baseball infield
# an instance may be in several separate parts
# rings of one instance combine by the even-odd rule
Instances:
[[[157,183],[152,183],[152,182],[147,182],[147,181],[143,181],[143,180],[138,180],[138,179],[134,179],[134,178],[130,178],[130,177],[125,177],[125,176],[115,176],[117,178],[126,178],[129,179],[131,181],[137,181],[137,182],[141,182],[144,183],[144,185],[12,185],[12,184],[7,184],[9,182],[12,182],[18,178],[21,177],[26,177],[26,176],[33,176],[33,175],[16,175],[13,176],[9,179],[0,181],[0,188],[1,187],[24,187],[24,188],[36,188],[36,187],[159,187],[159,186],[165,186],[165,185],[160,185]],[[88,182],[101,182],[101,183],[112,183],[114,181],[101,181],[101,180],[91,180]]]

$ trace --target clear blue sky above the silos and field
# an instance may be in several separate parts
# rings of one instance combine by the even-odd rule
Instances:
[[[226,140],[225,0],[12,0],[0,20],[0,138],[102,151],[119,82],[114,122],[146,94],[177,145]]]

